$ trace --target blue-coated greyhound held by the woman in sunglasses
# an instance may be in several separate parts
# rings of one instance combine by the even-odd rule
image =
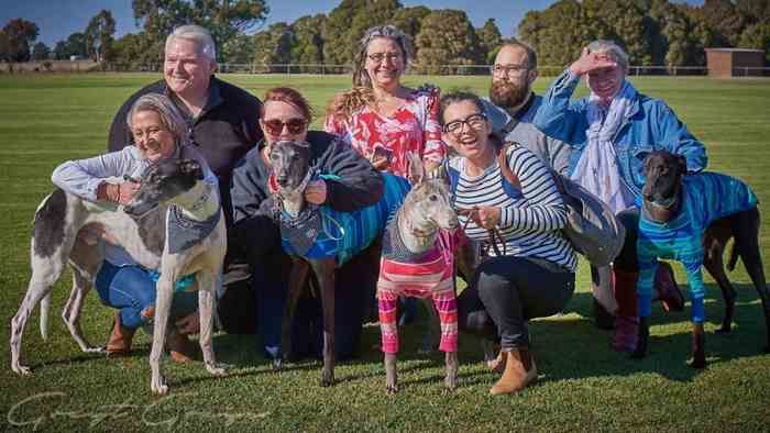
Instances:
[[[319,286],[323,319],[321,385],[330,386],[334,382],[334,270],[382,237],[387,220],[395,214],[409,188],[406,179],[384,174],[385,192],[375,204],[354,212],[337,212],[328,206],[310,204],[304,191],[317,174],[310,167],[309,146],[307,142],[294,141],[280,141],[271,146],[273,175],[270,182],[275,190],[271,200],[284,249],[310,265]],[[289,324],[306,276],[306,271],[293,271],[289,277],[282,330],[285,354],[290,352]]]

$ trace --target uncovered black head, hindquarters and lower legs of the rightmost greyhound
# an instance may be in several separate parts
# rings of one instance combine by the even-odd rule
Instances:
[[[682,178],[686,174],[686,160],[681,155],[653,152],[645,160],[645,171],[647,181],[642,189],[642,218],[657,223],[672,221],[683,211]],[[738,185],[737,179],[733,180],[736,182],[734,185]],[[708,199],[719,200],[717,197]],[[761,299],[767,338],[765,351],[768,352],[770,351],[770,291],[768,291],[766,284],[759,252],[759,227],[760,216],[756,206],[713,221],[703,234],[705,253],[703,265],[719,285],[726,303],[722,327],[717,332],[729,332],[735,311],[736,292],[725,274],[723,253],[730,237],[735,237],[729,269],[734,269],[737,256],[740,255]],[[693,322],[692,333],[693,362],[691,365],[695,368],[703,368],[706,366],[703,323]],[[646,355],[648,340],[649,323],[647,318],[642,318],[639,326],[639,342],[632,357],[640,358]]]

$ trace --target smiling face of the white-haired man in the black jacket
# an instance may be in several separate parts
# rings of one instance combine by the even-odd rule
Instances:
[[[163,78],[176,95],[206,95],[217,63],[202,53],[194,41],[177,37],[166,47]]]

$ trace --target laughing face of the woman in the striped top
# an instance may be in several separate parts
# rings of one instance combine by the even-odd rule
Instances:
[[[471,100],[449,104],[443,111],[441,137],[460,155],[475,160],[490,152],[492,124]]]

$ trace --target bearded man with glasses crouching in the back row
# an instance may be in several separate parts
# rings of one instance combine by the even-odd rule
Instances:
[[[532,119],[542,103],[532,85],[538,78],[537,54],[520,42],[506,43],[490,68],[492,86],[490,101],[484,101],[492,129],[506,142],[519,143],[554,170],[566,174],[571,147],[549,137],[532,125]]]

